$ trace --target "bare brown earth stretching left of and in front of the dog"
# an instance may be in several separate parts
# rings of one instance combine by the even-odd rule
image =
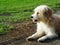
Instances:
[[[58,12],[60,14],[60,12]],[[0,45],[60,45],[60,37],[47,42],[26,41],[26,38],[36,32],[36,24],[31,21],[13,23],[15,28],[8,34],[0,35]]]

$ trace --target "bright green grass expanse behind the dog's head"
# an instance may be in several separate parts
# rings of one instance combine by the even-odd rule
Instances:
[[[60,9],[60,0],[0,0],[0,23],[27,21],[33,9],[41,4]]]

